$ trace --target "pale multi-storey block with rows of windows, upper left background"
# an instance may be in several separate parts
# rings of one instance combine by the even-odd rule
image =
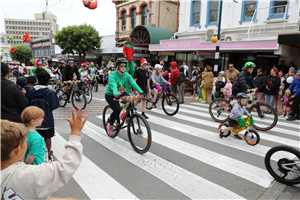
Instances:
[[[59,25],[57,24],[57,17],[50,13],[35,13],[35,19],[12,19],[5,18],[5,33],[6,35],[12,35],[13,41],[7,41],[12,46],[23,43],[23,40],[19,35],[29,34],[31,39],[38,39],[40,36],[49,36],[56,34],[59,31]],[[17,35],[19,34],[19,35]]]

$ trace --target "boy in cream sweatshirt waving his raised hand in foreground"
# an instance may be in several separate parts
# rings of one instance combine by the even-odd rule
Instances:
[[[59,161],[41,165],[19,162],[27,150],[28,131],[23,124],[0,120],[0,197],[1,199],[47,199],[64,187],[82,160],[80,132],[87,117],[79,108],[72,110],[71,135],[65,155]]]

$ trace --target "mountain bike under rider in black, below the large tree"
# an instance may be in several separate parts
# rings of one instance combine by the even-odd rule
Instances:
[[[87,100],[85,94],[77,89],[79,81],[67,81],[67,84],[63,84],[63,86],[68,85],[68,97],[64,97],[64,92],[62,88],[58,88],[56,90],[56,95],[59,100],[60,107],[65,107],[67,105],[67,102],[69,102],[69,99],[71,97],[72,105],[73,107],[78,110],[78,108],[81,108],[82,110],[85,109]]]

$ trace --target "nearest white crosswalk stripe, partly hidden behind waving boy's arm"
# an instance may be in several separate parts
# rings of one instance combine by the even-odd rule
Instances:
[[[61,158],[65,154],[66,143],[67,141],[56,132],[55,137],[52,138],[55,157]],[[73,178],[91,199],[137,199],[84,155]]]

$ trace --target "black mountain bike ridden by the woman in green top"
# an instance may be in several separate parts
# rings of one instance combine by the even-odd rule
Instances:
[[[121,114],[121,117],[113,124],[114,134],[110,135],[107,130],[107,125],[110,123],[110,115],[113,112],[109,105],[103,110],[102,122],[107,135],[115,138],[120,130],[127,128],[127,135],[129,142],[139,154],[144,154],[149,151],[152,135],[151,129],[147,120],[139,113],[136,112],[134,103],[141,100],[140,96],[124,96],[121,97],[121,110],[126,109]],[[120,122],[121,120],[121,122]],[[127,125],[125,125],[127,123]]]

